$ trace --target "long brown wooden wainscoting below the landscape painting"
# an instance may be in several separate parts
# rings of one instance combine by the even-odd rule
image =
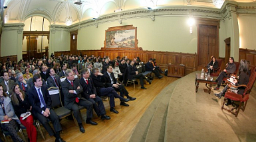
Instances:
[[[172,63],[174,65],[184,64],[185,75],[188,73],[192,73],[197,68],[195,53],[177,53],[177,52],[157,52],[157,51],[143,51],[143,50],[78,50],[76,53],[80,55],[94,55],[101,56],[104,55],[110,57],[110,59],[114,59],[117,56],[124,57],[127,56],[129,59],[133,59],[134,57],[140,57],[141,61],[147,62],[150,58],[155,58],[156,63],[162,67],[162,69],[168,69],[168,64]],[[63,53],[64,55],[69,54],[69,51],[66,52],[55,52],[55,56],[59,56]]]

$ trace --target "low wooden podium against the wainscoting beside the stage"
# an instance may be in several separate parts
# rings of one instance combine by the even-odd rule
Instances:
[[[168,77],[184,77],[185,66],[181,65],[168,65]]]

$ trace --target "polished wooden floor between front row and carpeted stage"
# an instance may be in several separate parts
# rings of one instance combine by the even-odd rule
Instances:
[[[126,89],[129,95],[137,98],[134,101],[127,102],[130,106],[120,106],[119,99],[115,99],[115,108],[118,110],[119,114],[114,114],[110,112],[108,100],[103,100],[106,115],[110,116],[111,120],[101,120],[94,113],[92,120],[97,122],[98,125],[86,124],[86,110],[82,110],[81,114],[85,133],[79,131],[74,121],[63,119],[61,120],[61,125],[64,133],[61,134],[61,137],[64,141],[129,141],[136,124],[139,122],[152,100],[154,100],[164,87],[177,79],[178,78],[166,76],[162,79],[155,78],[151,85],[145,85],[146,90],[140,89],[138,85],[136,85],[136,89],[134,89],[133,85],[128,85]],[[45,141],[55,141],[55,137],[50,137],[47,131],[45,131],[45,128],[43,126],[41,127],[45,135]],[[27,135],[26,132],[25,135]],[[37,133],[37,139],[38,141],[44,141],[41,135],[39,135],[39,132]]]

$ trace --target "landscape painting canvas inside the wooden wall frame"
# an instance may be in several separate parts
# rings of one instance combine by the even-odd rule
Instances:
[[[106,48],[135,48],[135,29],[106,32]]]

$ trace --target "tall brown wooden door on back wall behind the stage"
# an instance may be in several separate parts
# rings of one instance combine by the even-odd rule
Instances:
[[[198,40],[198,66],[203,67],[209,63],[211,55],[219,57],[219,46],[217,45],[217,26],[199,24]]]

